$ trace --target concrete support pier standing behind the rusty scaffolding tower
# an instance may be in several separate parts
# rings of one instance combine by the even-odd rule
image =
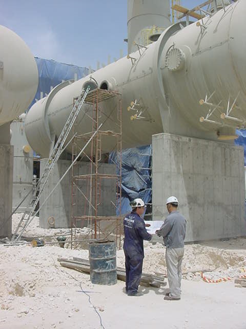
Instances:
[[[47,159],[40,160],[40,175],[44,171]],[[40,205],[43,204],[45,198],[49,195],[52,189],[57,184],[61,176],[66,172],[68,167],[71,165],[69,160],[59,160],[57,161],[49,181],[45,187],[42,196],[40,197]],[[115,166],[109,165],[108,163],[101,163],[99,166],[99,173],[102,174],[115,174]],[[77,162],[74,167],[74,175],[83,175],[90,172],[89,162]],[[87,198],[90,197],[89,180],[80,180],[77,182],[78,188],[81,192],[86,195]],[[99,216],[110,216],[115,215],[115,207],[112,205],[111,200],[115,204],[116,199],[116,181],[115,179],[101,179],[101,197],[98,199],[98,215]],[[88,202],[85,202],[85,197],[77,188],[74,189],[75,192],[75,205],[73,206],[74,215],[89,215]],[[98,196],[99,198],[99,196]],[[53,194],[49,197],[46,204],[40,209],[39,212],[39,225],[43,228],[48,228],[48,218],[50,216],[54,217],[55,228],[60,227],[71,227],[71,171],[67,173],[58,187],[55,189]],[[87,226],[86,223],[78,223],[78,227]]]

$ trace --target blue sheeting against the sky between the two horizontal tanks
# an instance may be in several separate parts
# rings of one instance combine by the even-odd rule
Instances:
[[[89,74],[87,67],[59,63],[38,57],[35,57],[35,61],[38,69],[38,87],[30,107],[35,103],[35,99],[40,99],[41,92],[43,92],[43,97],[45,97],[45,94],[50,93],[51,87],[54,88],[63,80],[73,80],[75,74],[77,79],[81,79]]]

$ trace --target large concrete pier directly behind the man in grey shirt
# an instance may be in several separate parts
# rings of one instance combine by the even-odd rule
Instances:
[[[170,134],[153,135],[153,220],[175,195],[188,220],[186,241],[246,235],[243,149]]]

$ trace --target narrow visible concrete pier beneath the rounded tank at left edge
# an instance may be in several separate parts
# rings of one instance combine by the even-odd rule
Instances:
[[[0,144],[0,237],[11,237],[13,147]]]

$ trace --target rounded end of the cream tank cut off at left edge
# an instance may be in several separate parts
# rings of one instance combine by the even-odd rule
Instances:
[[[0,25],[0,125],[22,114],[33,100],[38,72],[25,42]]]

